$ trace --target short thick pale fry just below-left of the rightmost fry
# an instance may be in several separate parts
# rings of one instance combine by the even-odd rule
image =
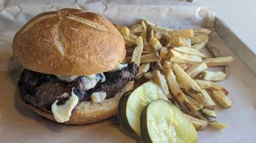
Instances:
[[[205,63],[198,63],[189,69],[186,70],[186,73],[191,77],[194,78],[199,75],[202,71],[206,70],[208,67]]]

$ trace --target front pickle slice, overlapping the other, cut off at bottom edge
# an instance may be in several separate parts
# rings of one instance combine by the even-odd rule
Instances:
[[[193,124],[172,103],[154,100],[141,113],[141,137],[144,142],[196,143]]]

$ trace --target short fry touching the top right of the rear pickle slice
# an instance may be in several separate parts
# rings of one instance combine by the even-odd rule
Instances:
[[[168,95],[170,92],[169,92],[167,81],[166,81],[164,75],[162,75],[160,73],[160,70],[154,70],[152,74],[153,74],[153,79],[154,79],[155,83],[158,84],[159,87],[162,88],[162,90],[164,91],[164,93],[166,95]]]

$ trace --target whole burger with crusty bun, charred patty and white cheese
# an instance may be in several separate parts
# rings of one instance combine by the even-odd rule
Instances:
[[[123,64],[121,34],[106,18],[77,9],[41,13],[14,36],[13,55],[25,68],[16,97],[52,121],[88,124],[117,113],[133,89],[135,63]]]

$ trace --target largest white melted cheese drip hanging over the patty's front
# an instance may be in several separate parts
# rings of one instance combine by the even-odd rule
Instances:
[[[78,97],[73,92],[74,88],[72,88],[71,96],[69,99],[65,102],[63,105],[57,105],[58,100],[56,100],[52,104],[52,113],[54,116],[54,119],[59,122],[63,123],[66,121],[69,121],[69,118],[71,117],[71,112],[78,103]],[[69,96],[68,93],[63,93],[61,97],[67,97]]]

